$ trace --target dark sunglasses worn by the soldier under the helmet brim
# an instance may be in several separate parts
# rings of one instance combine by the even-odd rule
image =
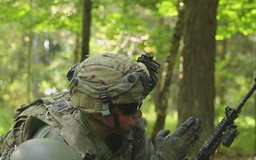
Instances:
[[[132,115],[135,114],[140,108],[142,107],[142,104],[139,104],[138,102],[134,103],[119,103],[114,105],[118,108],[118,110],[122,111],[122,114],[124,115]]]

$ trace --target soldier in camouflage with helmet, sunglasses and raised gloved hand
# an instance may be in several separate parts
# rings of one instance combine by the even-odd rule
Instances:
[[[138,63],[111,53],[86,58],[70,68],[69,92],[18,108],[14,128],[0,139],[2,157],[28,139],[46,138],[68,144],[82,157],[93,151],[97,160],[184,159],[198,140],[199,119],[189,118],[170,135],[159,132],[154,146],[144,130],[140,108],[156,85],[158,68],[150,55]]]

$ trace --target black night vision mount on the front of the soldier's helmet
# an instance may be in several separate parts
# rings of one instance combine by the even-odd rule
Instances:
[[[146,65],[146,69],[149,70],[149,77],[146,75],[142,75],[141,77],[142,85],[144,86],[146,95],[154,89],[158,80],[156,71],[159,69],[160,64],[154,61],[153,58],[154,55],[146,53],[146,55],[142,54],[137,60],[138,63],[143,63]]]

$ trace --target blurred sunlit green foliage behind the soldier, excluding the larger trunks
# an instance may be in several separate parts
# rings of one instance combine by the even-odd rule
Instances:
[[[215,124],[223,117],[225,106],[236,107],[252,85],[256,68],[255,5],[255,0],[219,1],[216,39],[227,41],[227,46],[222,57],[223,44],[218,41]],[[90,54],[118,52],[135,59],[150,52],[164,62],[171,49],[176,14],[176,1],[92,1]],[[14,110],[28,103],[29,42],[32,42],[29,92],[33,93],[33,99],[69,89],[65,74],[74,63],[73,52],[78,45],[75,38],[82,33],[82,1],[0,0],[0,20],[0,134],[3,134],[12,125]],[[171,131],[177,121],[179,66],[177,61],[165,124]],[[153,99],[154,94],[142,107],[149,135],[156,118]],[[255,99],[248,100],[241,114],[236,122],[240,135],[230,149],[223,149],[225,155],[253,152]]]

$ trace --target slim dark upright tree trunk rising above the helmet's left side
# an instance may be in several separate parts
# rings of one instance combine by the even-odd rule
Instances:
[[[83,0],[83,16],[82,16],[82,54],[81,62],[85,60],[89,54],[90,43],[90,23],[91,23],[91,1]]]

